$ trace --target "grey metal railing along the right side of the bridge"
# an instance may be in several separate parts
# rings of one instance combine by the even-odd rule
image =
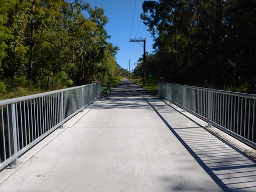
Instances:
[[[256,95],[162,82],[158,83],[158,94],[209,125],[256,147]]]

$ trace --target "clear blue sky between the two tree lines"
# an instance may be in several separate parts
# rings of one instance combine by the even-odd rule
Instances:
[[[108,18],[108,24],[105,29],[108,35],[111,36],[108,42],[119,47],[116,55],[117,63],[124,69],[134,69],[139,57],[143,54],[143,42],[141,45],[138,42],[129,42],[130,38],[145,38],[146,51],[153,51],[153,38],[147,31],[140,14],[142,11],[142,3],[144,0],[84,0],[90,3],[92,7],[98,6],[105,10],[105,15]],[[134,11],[135,6],[135,11]],[[133,17],[134,12],[134,17]]]

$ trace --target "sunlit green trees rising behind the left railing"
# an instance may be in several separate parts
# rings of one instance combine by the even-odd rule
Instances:
[[[82,0],[0,0],[0,82],[48,89],[122,75],[104,10]],[[3,86],[2,86],[3,87]]]

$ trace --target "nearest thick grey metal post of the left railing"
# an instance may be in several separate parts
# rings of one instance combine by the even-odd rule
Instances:
[[[16,109],[15,103],[8,105],[8,116],[9,116],[9,125],[10,125],[10,148],[11,154],[14,155],[18,152],[18,138],[17,138],[17,122],[16,122]],[[10,164],[9,168],[15,168],[18,165],[18,158],[15,158]]]

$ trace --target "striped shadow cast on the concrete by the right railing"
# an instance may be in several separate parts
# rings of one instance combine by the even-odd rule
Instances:
[[[255,159],[205,127],[194,122],[184,125],[184,121],[166,113],[163,106],[154,106],[154,100],[145,100],[223,191],[256,191]],[[175,111],[172,108],[169,110]],[[167,178],[163,179],[168,181]],[[170,190],[174,188],[170,187]],[[175,190],[182,191],[182,187],[177,186]]]

